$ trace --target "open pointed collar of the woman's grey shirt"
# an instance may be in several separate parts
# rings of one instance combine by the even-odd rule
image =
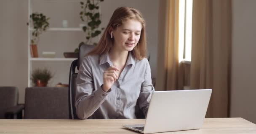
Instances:
[[[113,63],[111,62],[111,60],[109,58],[109,53],[101,54],[99,64],[101,65],[104,63],[108,63],[109,66],[113,65]],[[126,65],[130,65],[130,64],[135,66],[135,59],[133,58],[133,55],[131,54],[131,52],[129,52],[128,59],[126,62]]]

